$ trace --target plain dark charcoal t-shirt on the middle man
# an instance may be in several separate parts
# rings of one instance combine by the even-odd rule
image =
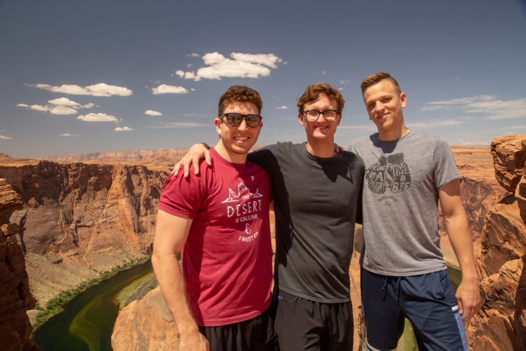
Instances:
[[[275,284],[312,301],[349,301],[362,160],[350,152],[319,158],[306,143],[278,143],[248,161],[265,168],[274,187]]]

